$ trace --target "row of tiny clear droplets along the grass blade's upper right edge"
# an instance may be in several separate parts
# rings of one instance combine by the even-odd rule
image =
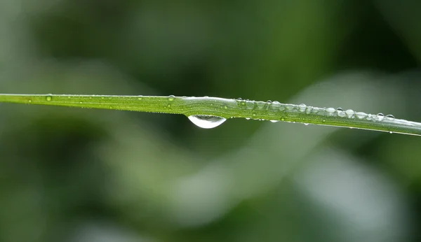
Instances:
[[[319,115],[326,115],[326,116],[338,116],[340,118],[358,118],[360,120],[373,120],[373,121],[382,121],[382,120],[394,120],[393,115],[384,115],[382,113],[377,113],[377,115],[367,114],[363,112],[355,112],[352,109],[348,109],[346,111],[342,110],[342,108],[317,108],[312,106],[307,106],[305,104],[281,104],[279,101],[250,101],[250,100],[243,100],[243,99],[236,99],[237,104],[246,109],[268,109],[272,108],[276,109],[277,111],[288,111],[288,115],[290,117],[294,116],[294,113],[298,115],[298,113],[306,113],[306,114],[319,114]],[[253,116],[255,113],[252,114]],[[250,119],[250,118],[247,118]],[[276,120],[272,121],[276,122]]]

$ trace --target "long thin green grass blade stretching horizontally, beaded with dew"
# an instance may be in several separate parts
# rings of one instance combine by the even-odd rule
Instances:
[[[218,97],[0,94],[0,102],[300,122],[421,136],[421,123],[396,119],[392,115],[370,115],[304,104],[280,104],[277,101]]]

